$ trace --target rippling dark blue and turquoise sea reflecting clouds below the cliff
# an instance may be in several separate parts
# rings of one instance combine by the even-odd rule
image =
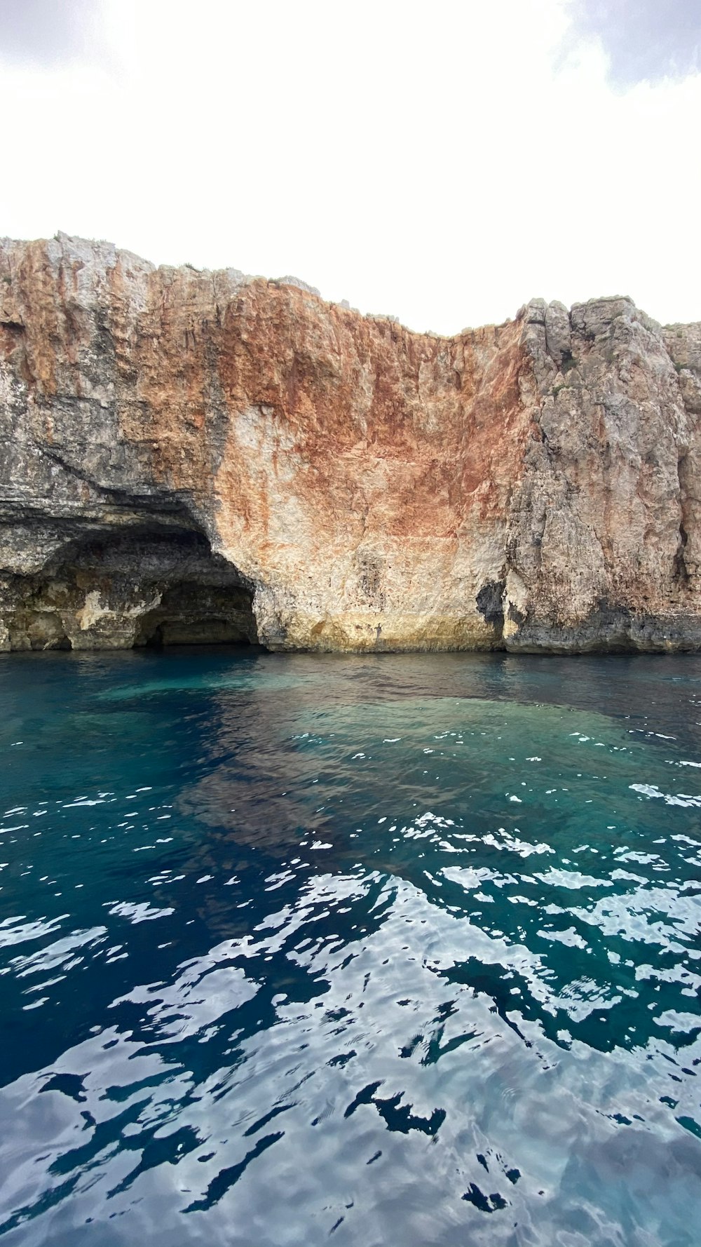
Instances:
[[[7,1247],[697,1247],[701,660],[0,698]]]

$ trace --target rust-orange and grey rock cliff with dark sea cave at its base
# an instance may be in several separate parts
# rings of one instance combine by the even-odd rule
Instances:
[[[701,324],[0,244],[0,648],[701,646]]]

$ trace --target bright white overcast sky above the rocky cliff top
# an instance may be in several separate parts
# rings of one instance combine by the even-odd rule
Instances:
[[[701,319],[701,0],[0,0],[0,233]]]

